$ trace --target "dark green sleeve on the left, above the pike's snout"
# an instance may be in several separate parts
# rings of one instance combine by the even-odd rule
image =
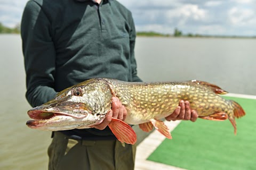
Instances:
[[[26,98],[33,107],[54,98],[55,48],[51,24],[34,1],[29,1],[21,21],[22,50],[26,70]]]

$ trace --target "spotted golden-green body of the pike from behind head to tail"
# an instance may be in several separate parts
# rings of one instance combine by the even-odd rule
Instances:
[[[190,108],[195,109],[199,117],[207,118],[214,113],[227,113],[234,121],[235,116],[244,115],[243,109],[238,104],[218,95],[226,94],[226,91],[210,83],[202,81],[131,83],[105,80],[111,84],[115,95],[125,105],[128,112],[125,122],[129,124],[141,124],[148,122],[150,118],[166,117],[173,113],[180,100],[188,100]]]

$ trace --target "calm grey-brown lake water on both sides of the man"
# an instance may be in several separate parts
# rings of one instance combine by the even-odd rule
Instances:
[[[144,81],[203,80],[256,95],[256,39],[138,37],[138,74]],[[47,169],[51,132],[27,128],[25,69],[20,35],[0,35],[0,169]]]

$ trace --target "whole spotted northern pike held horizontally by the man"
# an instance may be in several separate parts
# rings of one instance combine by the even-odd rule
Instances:
[[[130,126],[135,124],[146,132],[154,126],[171,139],[167,126],[159,119],[173,113],[180,100],[188,100],[200,118],[214,121],[228,118],[236,134],[235,118],[245,112],[235,101],[222,98],[223,94],[227,91],[204,81],[147,83],[96,78],[62,90],[54,99],[30,109],[28,115],[34,120],[27,121],[27,125],[47,131],[92,128],[103,121],[111,109],[111,97],[116,96],[125,106],[127,116],[124,122],[112,118],[108,126],[121,142],[136,142]]]

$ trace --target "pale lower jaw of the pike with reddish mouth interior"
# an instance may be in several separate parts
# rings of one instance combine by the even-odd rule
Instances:
[[[67,115],[67,113],[51,113],[37,111],[31,112],[30,114],[34,118],[41,118],[42,115],[47,115],[44,119],[36,119],[27,121],[26,125],[31,129],[38,129],[44,131],[60,131],[60,130],[71,130],[71,129],[87,129],[92,128],[93,125],[100,124],[105,115],[87,114],[82,118]]]

